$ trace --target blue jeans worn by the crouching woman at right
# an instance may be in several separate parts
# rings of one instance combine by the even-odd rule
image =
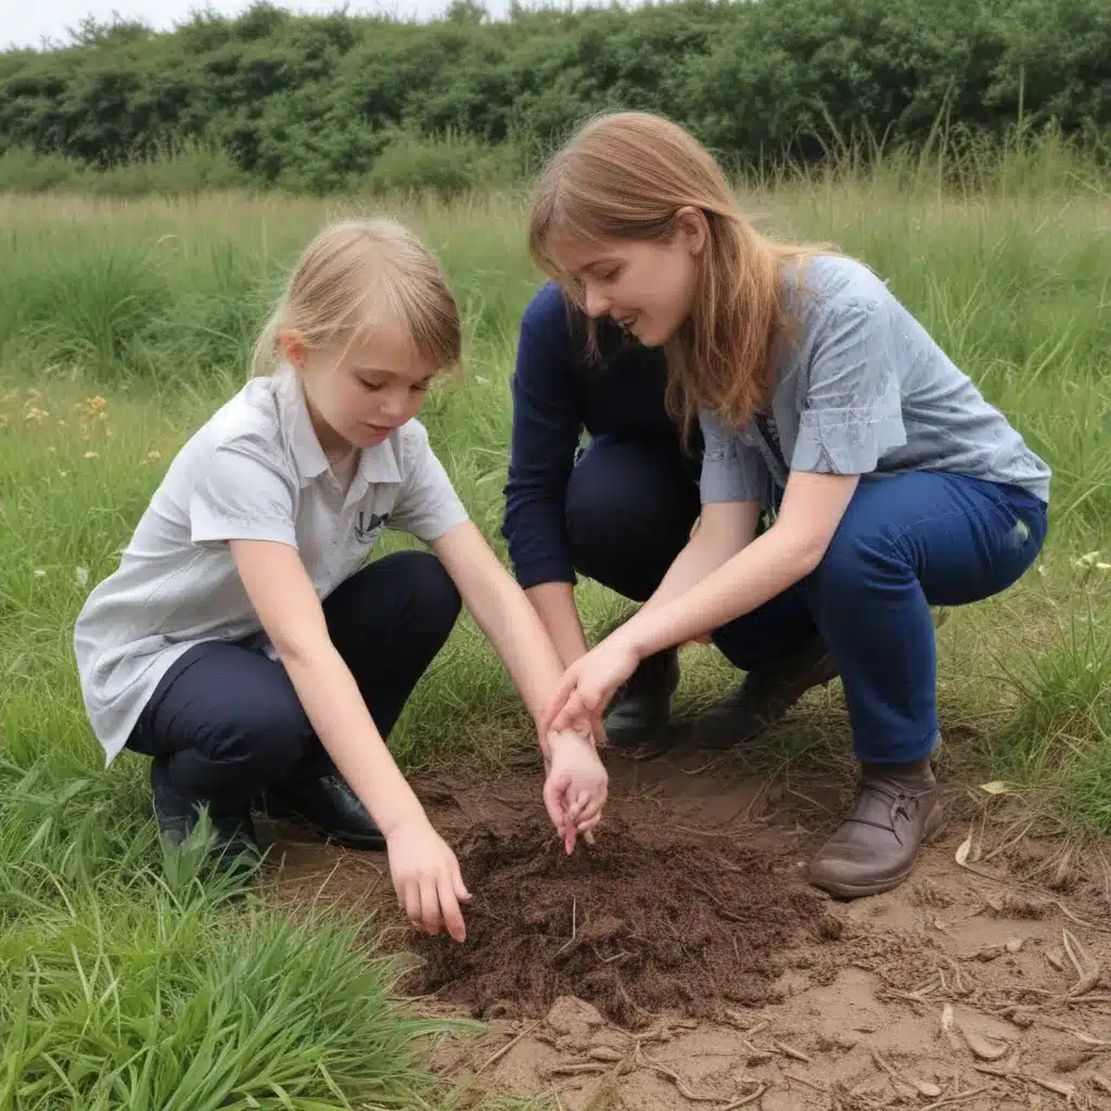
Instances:
[[[1005,590],[1045,531],[1044,502],[1014,487],[939,471],[865,478],[817,570],[713,640],[751,671],[819,633],[844,684],[858,758],[921,760],[938,734],[930,607]]]

